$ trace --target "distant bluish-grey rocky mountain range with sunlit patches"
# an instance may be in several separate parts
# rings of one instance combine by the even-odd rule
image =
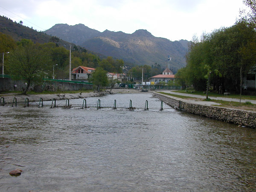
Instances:
[[[56,24],[45,33],[75,43],[90,51],[123,59],[135,65],[151,66],[157,63],[165,68],[168,65],[168,57],[172,57],[169,65],[173,72],[186,66],[185,55],[189,41],[170,41],[166,38],[154,37],[144,29],[126,34],[108,30],[99,32],[84,24],[74,26]]]

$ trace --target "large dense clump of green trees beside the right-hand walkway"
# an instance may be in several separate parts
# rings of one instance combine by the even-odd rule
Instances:
[[[189,46],[187,65],[178,71],[178,76],[195,90],[209,90],[212,84],[215,90],[222,85],[239,92],[242,77],[255,66],[255,46],[256,31],[244,20],[203,34],[200,42]]]

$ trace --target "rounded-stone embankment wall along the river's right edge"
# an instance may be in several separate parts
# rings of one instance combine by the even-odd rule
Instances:
[[[174,109],[253,129],[256,127],[256,112],[218,106],[205,106],[160,93],[153,93],[153,96],[163,100],[163,102],[172,106]]]

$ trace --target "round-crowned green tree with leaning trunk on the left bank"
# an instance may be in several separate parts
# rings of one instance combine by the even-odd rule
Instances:
[[[32,83],[41,82],[42,78],[47,75],[44,69],[50,61],[50,56],[43,52],[39,45],[35,45],[31,41],[26,42],[23,46],[17,46],[13,52],[10,52],[7,63],[13,78],[24,80],[27,83],[23,95],[26,95]]]

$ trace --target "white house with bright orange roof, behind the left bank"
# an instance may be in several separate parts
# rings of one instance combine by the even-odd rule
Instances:
[[[72,79],[87,82],[94,71],[94,68],[78,66],[71,72]]]

